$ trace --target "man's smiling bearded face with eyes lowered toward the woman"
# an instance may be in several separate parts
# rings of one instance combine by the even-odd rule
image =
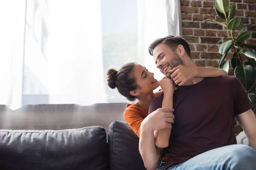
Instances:
[[[153,57],[157,64],[157,68],[159,68],[164,75],[172,70],[172,68],[178,65],[183,65],[183,61],[178,54],[175,51],[172,51],[168,45],[163,43],[154,48]]]

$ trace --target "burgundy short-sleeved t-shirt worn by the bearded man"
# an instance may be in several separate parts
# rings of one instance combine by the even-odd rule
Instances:
[[[152,100],[148,113],[162,108],[162,101],[163,93]],[[208,150],[237,144],[234,118],[253,105],[239,79],[221,76],[177,87],[173,107],[175,120],[164,170]]]

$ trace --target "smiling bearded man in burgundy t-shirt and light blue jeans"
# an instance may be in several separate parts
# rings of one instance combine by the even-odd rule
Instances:
[[[173,72],[172,78],[177,74],[172,69],[180,69],[178,65],[195,66],[189,44],[181,37],[157,39],[148,49],[157,68],[164,74]],[[179,79],[173,80],[179,85]],[[161,170],[256,169],[256,119],[239,79],[193,78],[177,86],[173,94],[174,116],[170,108],[161,108],[163,95],[153,99],[151,114],[141,125],[139,149],[148,170],[160,165],[163,149],[155,147],[154,131],[164,128],[172,129],[172,133]],[[235,116],[251,147],[236,144]]]

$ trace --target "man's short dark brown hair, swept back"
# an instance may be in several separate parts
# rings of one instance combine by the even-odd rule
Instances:
[[[180,36],[173,36],[173,35],[169,35],[169,36],[154,40],[154,42],[152,42],[148,47],[148,52],[151,56],[153,56],[154,48],[161,43],[168,45],[169,48],[172,49],[172,51],[175,51],[178,45],[183,45],[186,51],[186,54],[188,54],[188,56],[191,58],[189,43],[184,38]]]

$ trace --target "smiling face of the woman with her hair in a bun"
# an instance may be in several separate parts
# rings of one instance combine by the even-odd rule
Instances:
[[[154,78],[154,73],[149,72],[142,65],[135,65],[134,76],[138,85],[137,91],[139,94],[151,93],[154,89],[159,87],[159,82]]]

